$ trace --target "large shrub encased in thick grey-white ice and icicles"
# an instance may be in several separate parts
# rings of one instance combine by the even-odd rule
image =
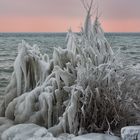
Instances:
[[[42,55],[36,45],[25,41],[19,44],[14,72],[0,107],[7,125],[0,130],[22,125],[6,130],[3,140],[21,137],[17,133],[24,129],[27,137],[34,135],[39,126],[48,129],[41,128],[46,135],[54,136],[116,134],[120,127],[138,120],[132,112],[139,110],[139,70],[120,62],[98,17],[92,23],[91,6],[88,9],[81,33],[69,30],[66,48],[54,48],[52,59]]]

